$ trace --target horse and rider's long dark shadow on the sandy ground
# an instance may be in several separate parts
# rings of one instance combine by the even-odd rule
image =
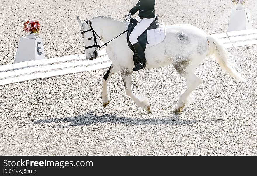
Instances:
[[[178,124],[192,124],[192,123],[206,123],[206,122],[220,122],[222,119],[206,119],[206,120],[183,120],[179,118],[180,115],[173,114],[172,117],[164,118],[131,118],[131,117],[119,117],[119,115],[104,114],[96,115],[91,111],[84,115],[65,117],[65,118],[51,118],[51,119],[39,119],[33,121],[35,124],[41,123],[54,123],[54,122],[68,122],[70,124],[64,126],[56,126],[57,128],[67,128],[69,126],[88,126],[96,123],[122,123],[130,125],[178,125]]]

